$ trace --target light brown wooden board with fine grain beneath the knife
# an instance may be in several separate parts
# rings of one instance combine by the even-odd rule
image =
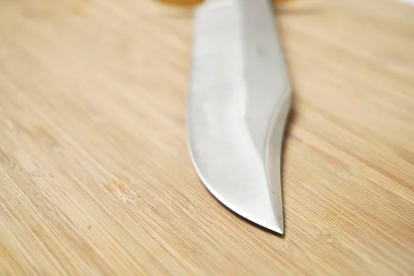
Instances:
[[[279,237],[190,162],[190,8],[1,1],[0,275],[414,275],[414,8],[302,3]]]

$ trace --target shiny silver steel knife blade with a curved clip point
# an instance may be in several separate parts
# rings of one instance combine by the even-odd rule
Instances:
[[[290,85],[267,0],[195,10],[188,142],[195,169],[228,208],[283,233],[280,157]]]

